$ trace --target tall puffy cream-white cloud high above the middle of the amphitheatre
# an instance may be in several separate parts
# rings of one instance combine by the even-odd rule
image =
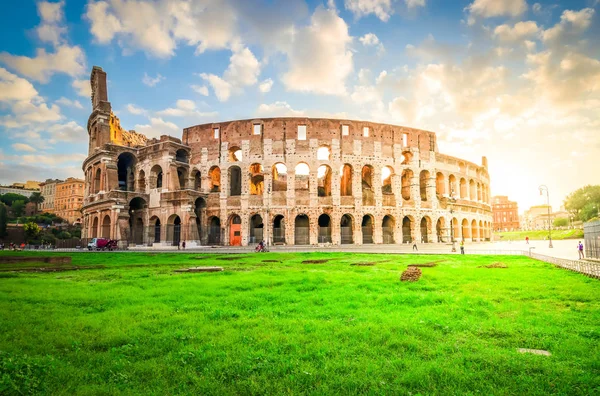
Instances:
[[[291,91],[343,95],[352,72],[352,37],[348,25],[335,10],[318,7],[311,24],[297,31],[288,52],[288,71],[283,75]]]

